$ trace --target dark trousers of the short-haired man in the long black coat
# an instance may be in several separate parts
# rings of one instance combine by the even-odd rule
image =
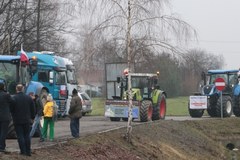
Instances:
[[[21,154],[31,155],[30,123],[14,124]]]

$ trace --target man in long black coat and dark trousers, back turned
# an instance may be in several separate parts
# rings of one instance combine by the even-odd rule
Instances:
[[[29,95],[23,93],[22,84],[16,86],[11,113],[17,134],[20,154],[31,156],[30,124],[34,119],[34,102]]]

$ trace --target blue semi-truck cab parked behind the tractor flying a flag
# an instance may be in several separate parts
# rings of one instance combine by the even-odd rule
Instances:
[[[20,52],[18,52],[18,55]],[[67,115],[66,102],[67,76],[66,65],[62,57],[54,55],[53,52],[26,52],[28,57],[37,57],[38,66],[36,73],[32,76],[33,81],[40,82],[44,88],[44,94],[52,94],[54,101],[58,105],[58,117]]]

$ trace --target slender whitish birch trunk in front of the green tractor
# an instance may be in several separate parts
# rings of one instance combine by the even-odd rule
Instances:
[[[127,140],[131,142],[132,134],[132,84],[131,84],[131,0],[128,0],[128,17],[127,17],[127,61],[128,61],[128,124],[127,124]]]

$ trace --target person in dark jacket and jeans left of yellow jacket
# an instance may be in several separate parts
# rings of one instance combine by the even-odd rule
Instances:
[[[30,94],[30,96],[32,97],[34,104],[35,104],[35,118],[34,118],[34,122],[32,124],[32,129],[30,132],[30,137],[32,138],[35,134],[35,132],[37,131],[39,133],[39,137],[40,137],[40,142],[43,142],[43,136],[42,136],[42,131],[41,131],[41,124],[40,124],[40,120],[43,116],[43,104],[42,101],[40,100],[40,98],[38,97],[38,95],[34,95],[33,93]]]

